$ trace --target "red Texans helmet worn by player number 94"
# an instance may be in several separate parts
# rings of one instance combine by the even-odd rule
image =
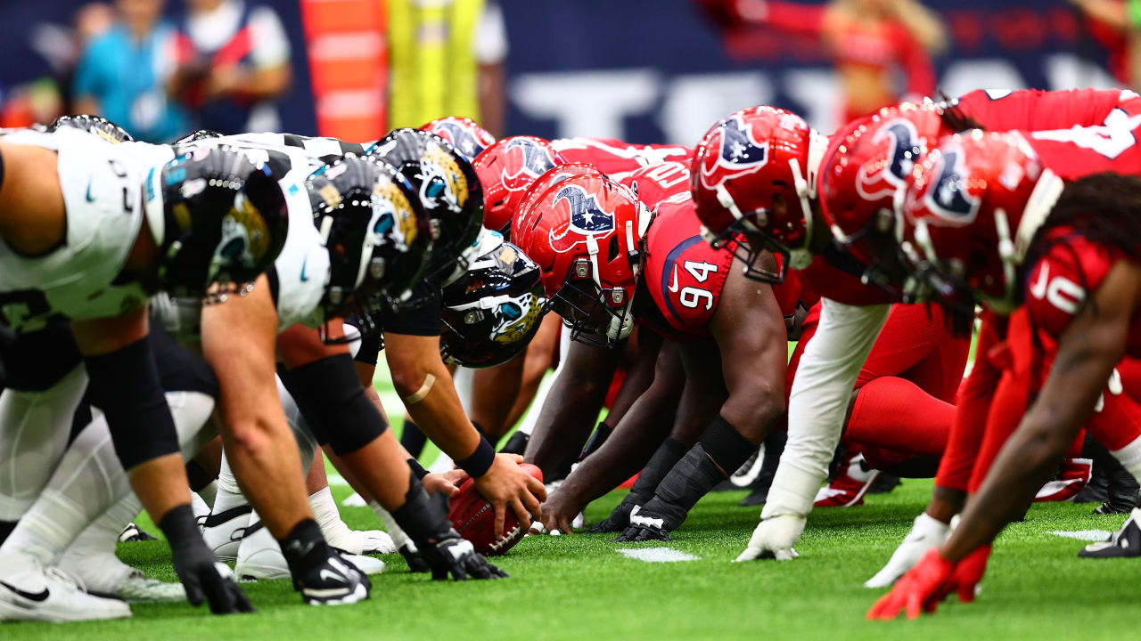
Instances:
[[[633,330],[633,298],[650,212],[602,176],[576,176],[535,202],[520,249],[539,263],[551,309],[570,339],[613,347]]]

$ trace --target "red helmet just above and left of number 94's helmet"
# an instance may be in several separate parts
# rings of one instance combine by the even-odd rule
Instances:
[[[534,136],[503,138],[480,153],[472,165],[484,187],[484,227],[504,235],[532,182],[566,164],[555,147]]]

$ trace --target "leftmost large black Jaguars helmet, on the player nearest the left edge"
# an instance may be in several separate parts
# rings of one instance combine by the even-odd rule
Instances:
[[[285,195],[268,167],[233,147],[202,148],[154,168],[146,218],[155,277],[176,298],[224,300],[268,269],[285,244]],[[211,287],[219,284],[219,287]]]

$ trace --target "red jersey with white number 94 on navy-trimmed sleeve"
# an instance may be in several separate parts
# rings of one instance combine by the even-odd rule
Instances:
[[[709,336],[734,257],[702,238],[702,224],[689,195],[688,168],[677,162],[656,164],[625,177],[622,184],[656,212],[646,236],[641,277],[644,294],[648,293],[654,305],[641,307],[639,322],[678,342]],[[794,277],[774,285],[782,314],[796,311],[801,289]]]

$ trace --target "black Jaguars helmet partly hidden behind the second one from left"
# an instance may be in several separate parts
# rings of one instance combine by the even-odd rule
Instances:
[[[483,188],[471,162],[447,140],[418,129],[396,129],[367,154],[395,167],[420,196],[432,237],[424,281],[447,284],[459,278],[475,257],[474,243],[484,222]],[[432,287],[421,290],[428,293]],[[402,306],[430,300],[419,292],[415,298]]]

